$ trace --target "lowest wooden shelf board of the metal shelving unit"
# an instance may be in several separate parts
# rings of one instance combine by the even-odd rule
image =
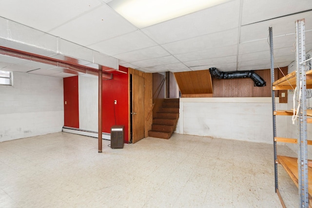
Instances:
[[[298,164],[297,158],[277,155],[278,163],[283,166],[288,175],[291,177],[294,184],[298,187]],[[308,160],[312,163],[312,160]],[[308,166],[308,186],[309,186],[309,200],[312,200],[312,167]]]

